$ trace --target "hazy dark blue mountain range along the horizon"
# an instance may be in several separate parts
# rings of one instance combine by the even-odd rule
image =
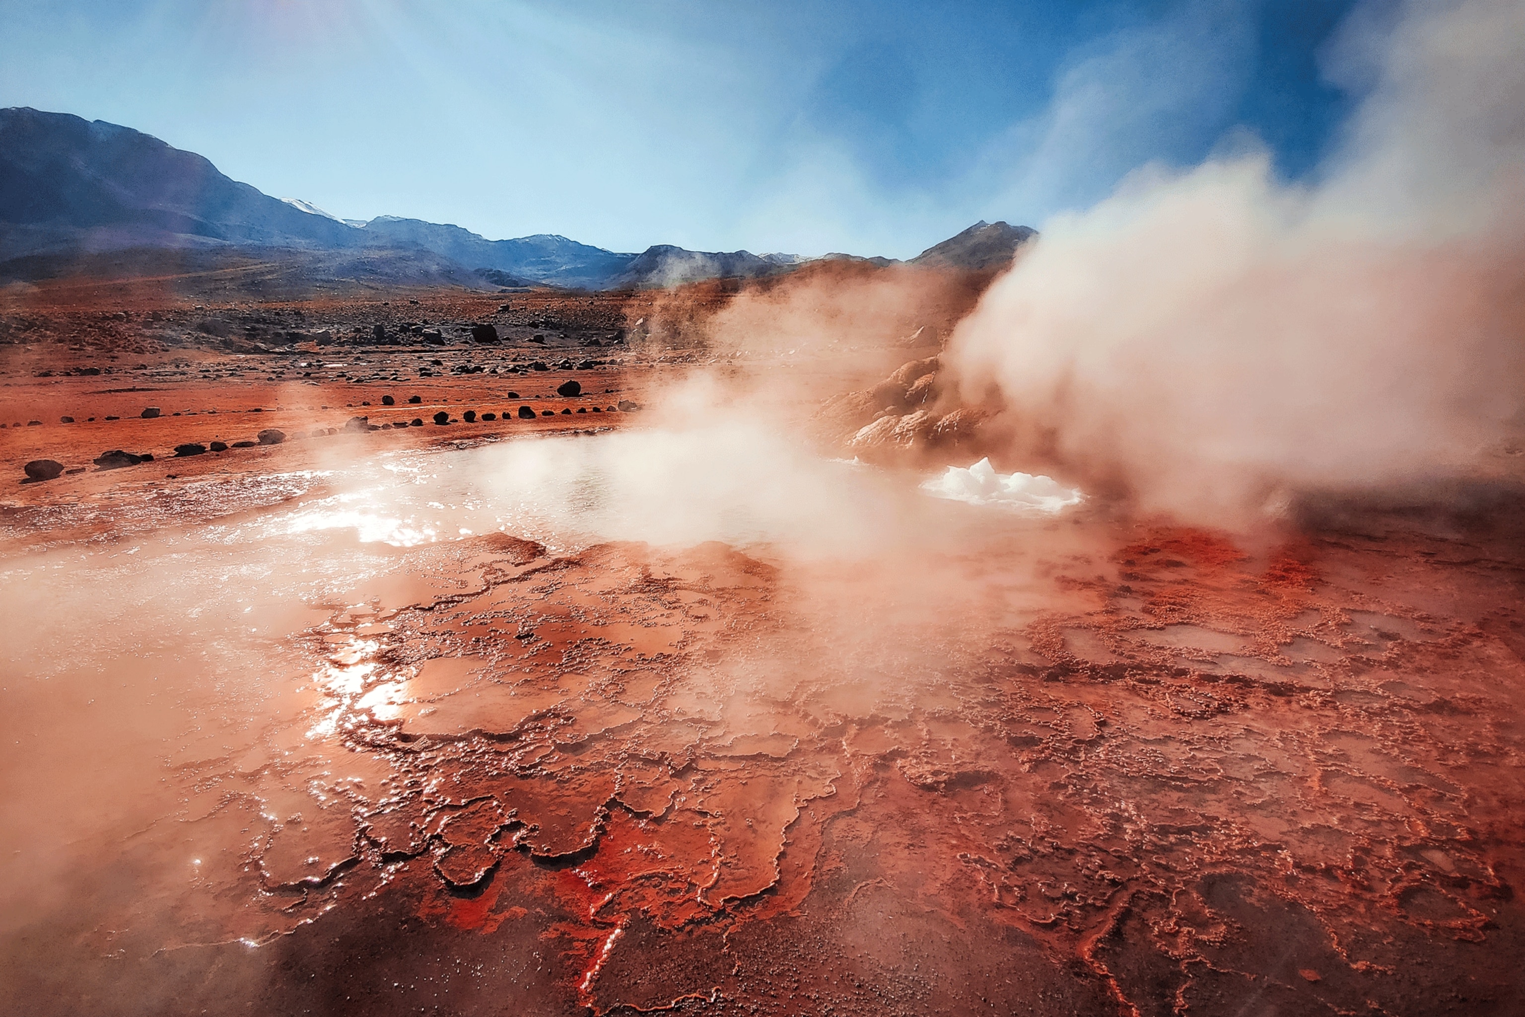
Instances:
[[[994,270],[1034,235],[1025,226],[976,223],[909,264]],[[139,249],[207,256],[259,250],[331,276],[349,271],[358,279],[358,271],[378,284],[473,288],[668,287],[778,274],[810,261],[671,244],[621,253],[551,233],[493,241],[459,226],[392,215],[340,220],[308,201],[273,198],[230,180],[207,159],[127,127],[24,107],[0,110],[0,278],[41,278],[81,256]]]

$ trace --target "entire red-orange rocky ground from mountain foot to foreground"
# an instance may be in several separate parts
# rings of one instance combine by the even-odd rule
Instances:
[[[1519,1012],[1517,477],[933,499],[988,271],[107,276],[0,314],[8,1011]]]

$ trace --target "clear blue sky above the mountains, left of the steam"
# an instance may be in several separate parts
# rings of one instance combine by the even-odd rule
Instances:
[[[910,256],[1145,163],[1316,171],[1353,0],[0,0],[0,105],[337,215]]]

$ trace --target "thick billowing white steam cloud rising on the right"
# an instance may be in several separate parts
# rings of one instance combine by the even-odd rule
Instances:
[[[1141,169],[1048,223],[952,340],[965,399],[1144,509],[1473,462],[1525,399],[1525,5],[1347,26],[1371,90],[1321,181],[1260,154]]]

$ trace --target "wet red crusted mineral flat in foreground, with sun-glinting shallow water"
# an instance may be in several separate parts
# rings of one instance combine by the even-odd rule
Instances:
[[[1513,517],[683,540],[525,444],[11,552],[8,1012],[1519,1012]]]

